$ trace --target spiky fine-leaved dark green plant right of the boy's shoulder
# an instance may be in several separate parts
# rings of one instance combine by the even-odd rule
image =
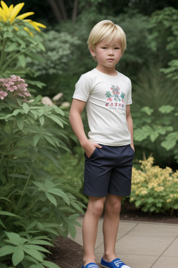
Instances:
[[[131,108],[134,112],[149,106],[157,113],[162,105],[178,105],[178,85],[166,78],[160,68],[161,63],[149,62],[149,65],[140,71],[137,81],[133,82]]]

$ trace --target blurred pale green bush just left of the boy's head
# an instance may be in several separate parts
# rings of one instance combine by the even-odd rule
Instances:
[[[74,84],[78,80],[71,68],[73,63],[79,61],[76,52],[81,41],[75,35],[53,30],[47,31],[40,42],[44,45],[45,52],[39,50],[38,55],[44,61],[34,65],[33,59],[28,59],[28,66],[35,71],[35,77],[38,76],[45,84],[45,87],[38,89],[38,93],[52,98],[63,92],[63,100],[71,101]]]

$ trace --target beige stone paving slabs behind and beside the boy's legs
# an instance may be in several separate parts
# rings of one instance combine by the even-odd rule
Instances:
[[[79,218],[82,223],[83,219]],[[102,219],[99,220],[95,255],[99,264],[103,253]],[[81,228],[76,243],[82,245]],[[115,247],[118,258],[131,268],[178,268],[178,225],[120,221]]]

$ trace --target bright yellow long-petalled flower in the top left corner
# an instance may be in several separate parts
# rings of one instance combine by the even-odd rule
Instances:
[[[44,24],[41,24],[39,22],[33,22],[33,20],[24,20],[25,17],[29,17],[34,14],[34,12],[27,12],[22,15],[18,15],[19,11],[23,8],[24,3],[18,3],[15,7],[13,5],[10,5],[9,7],[6,5],[4,1],[1,1],[1,7],[0,7],[0,21],[6,22],[8,24],[14,24],[17,22],[17,20],[23,20],[24,22],[29,22],[35,30],[40,31],[39,27],[46,28]],[[17,27],[14,26],[17,30]],[[29,34],[33,35],[29,28],[24,28],[26,31],[29,32]]]

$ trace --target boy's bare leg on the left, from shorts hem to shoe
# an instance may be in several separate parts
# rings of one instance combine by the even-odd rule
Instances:
[[[95,262],[95,241],[97,239],[97,226],[106,198],[95,198],[89,196],[86,215],[83,219],[83,264],[84,267],[89,262]]]

